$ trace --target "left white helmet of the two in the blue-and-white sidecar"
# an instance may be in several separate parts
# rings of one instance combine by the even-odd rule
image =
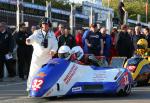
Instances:
[[[70,47],[63,45],[58,50],[58,57],[68,60],[70,58]]]

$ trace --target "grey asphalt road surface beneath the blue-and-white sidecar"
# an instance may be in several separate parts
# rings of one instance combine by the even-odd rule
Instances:
[[[127,97],[80,95],[61,98],[30,98],[26,81],[0,82],[0,103],[150,103],[150,86],[135,87]]]

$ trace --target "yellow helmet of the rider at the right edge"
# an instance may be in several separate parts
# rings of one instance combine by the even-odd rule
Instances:
[[[140,39],[137,42],[137,49],[147,49],[148,48],[148,42],[146,39]]]

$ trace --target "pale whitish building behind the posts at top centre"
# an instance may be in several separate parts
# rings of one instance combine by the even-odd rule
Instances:
[[[97,4],[97,2],[98,2],[98,4]],[[84,11],[83,12],[84,15],[90,16],[91,8],[92,8],[92,13],[93,13],[93,22],[95,22],[95,23],[102,23],[103,26],[106,26],[106,20],[108,18],[108,13],[111,14],[111,17],[114,17],[114,10],[111,8],[106,8],[106,7],[102,6],[101,0],[95,0],[95,3],[91,3],[88,1],[82,2],[82,11]]]

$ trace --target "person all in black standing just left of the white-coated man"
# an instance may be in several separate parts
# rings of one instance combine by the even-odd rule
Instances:
[[[32,57],[32,46],[26,45],[26,38],[30,35],[27,33],[27,28],[24,23],[20,24],[20,30],[15,34],[17,44],[18,71],[19,77],[25,79],[25,74],[28,76]]]

